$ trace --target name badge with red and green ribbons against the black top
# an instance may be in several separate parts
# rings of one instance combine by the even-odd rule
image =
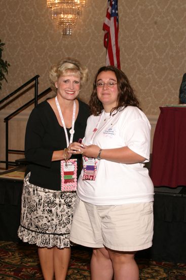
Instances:
[[[61,191],[77,190],[77,159],[61,160]]]

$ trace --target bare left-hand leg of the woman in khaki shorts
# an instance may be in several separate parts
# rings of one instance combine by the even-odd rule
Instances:
[[[113,265],[106,248],[93,249],[91,258],[91,279],[111,280],[113,278]]]

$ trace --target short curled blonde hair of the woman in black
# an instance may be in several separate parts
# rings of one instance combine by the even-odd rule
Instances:
[[[61,76],[66,76],[68,74],[80,75],[81,86],[88,79],[88,69],[87,67],[81,65],[77,59],[65,58],[60,60],[57,64],[53,64],[49,71],[49,78],[52,84],[52,88],[56,90],[55,82]]]

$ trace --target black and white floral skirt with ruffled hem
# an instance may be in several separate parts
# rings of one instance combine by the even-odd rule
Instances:
[[[29,177],[23,184],[19,238],[39,247],[69,247],[76,191],[41,188],[30,184]]]

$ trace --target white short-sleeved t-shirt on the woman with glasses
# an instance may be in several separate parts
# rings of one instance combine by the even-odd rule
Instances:
[[[97,131],[93,132],[97,125]],[[102,116],[90,116],[83,143],[101,149],[127,146],[135,153],[150,158],[151,125],[137,107],[127,106],[114,116],[103,111]],[[120,205],[151,202],[154,186],[144,163],[125,164],[105,159],[97,160],[95,181],[78,180],[77,193],[81,200],[94,205]]]

